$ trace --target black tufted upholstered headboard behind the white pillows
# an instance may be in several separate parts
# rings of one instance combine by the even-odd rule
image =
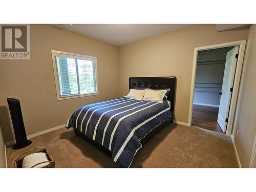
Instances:
[[[129,89],[133,88],[170,88],[167,100],[170,101],[170,111],[174,111],[176,77],[130,77]]]

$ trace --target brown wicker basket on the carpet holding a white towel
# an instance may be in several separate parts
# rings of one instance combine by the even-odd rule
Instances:
[[[39,152],[45,153],[47,158],[49,159],[49,161],[43,161],[43,162],[37,163],[37,164],[33,165],[30,168],[33,168],[36,165],[39,165],[41,163],[49,163],[48,165],[46,165],[44,167],[41,167],[41,168],[54,168],[55,167],[55,161],[52,159],[52,156],[49,154],[49,152],[47,151],[47,149],[45,147],[33,148],[32,150],[29,150],[29,151],[25,152],[23,155],[19,156],[16,159],[16,161],[14,162],[15,168],[22,168],[23,159],[26,156],[28,156],[28,155],[30,155],[32,153],[39,153]]]

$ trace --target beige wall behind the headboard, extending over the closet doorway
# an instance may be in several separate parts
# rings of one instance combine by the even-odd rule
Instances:
[[[193,25],[119,47],[120,95],[129,77],[176,76],[175,119],[188,122],[194,48],[247,39],[248,27],[215,32],[215,25]]]

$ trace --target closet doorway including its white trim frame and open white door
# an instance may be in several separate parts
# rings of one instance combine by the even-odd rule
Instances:
[[[195,112],[194,114],[198,114],[198,117],[206,118],[206,119],[203,119],[204,122],[207,122],[207,123],[204,123],[206,127],[201,126],[202,128],[207,129],[207,126],[208,127],[215,126],[215,129],[216,130],[218,129],[219,132],[223,132],[223,133],[226,133],[227,136],[231,136],[234,112],[236,109],[236,102],[238,97],[240,77],[242,72],[245,45],[246,45],[246,40],[241,40],[241,41],[227,42],[224,44],[195,48],[192,79],[191,79],[191,89],[190,89],[190,103],[189,103],[189,116],[188,116],[189,126],[193,125],[192,120],[193,120],[193,107],[194,107],[194,112]],[[207,56],[208,60],[206,60],[204,56],[206,56],[207,54],[203,54],[204,56],[200,56],[200,54],[206,53],[203,51],[208,51],[208,52],[212,52],[213,50],[220,51],[221,50],[220,48],[225,48],[225,49],[222,49],[222,51],[226,50],[225,58],[216,59],[216,58]],[[215,60],[210,60],[210,59],[215,59]],[[214,62],[218,63],[214,65],[215,66],[219,65],[219,69],[218,67],[216,67],[216,69],[214,69],[214,67],[211,67],[212,69],[208,70],[208,72],[207,70],[202,70],[204,68],[209,68],[210,66],[214,66],[212,65],[212,63]],[[221,62],[222,62],[222,69],[220,67]],[[209,66],[207,66],[207,64]],[[199,66],[199,65],[202,65],[202,66]],[[199,68],[198,69],[199,71],[201,70],[201,72],[199,73],[203,74],[206,80],[211,80],[211,81],[200,82],[199,80],[200,79],[202,80],[201,78],[202,76],[199,78],[196,77],[197,68]],[[224,69],[224,72],[223,72],[223,69]],[[220,71],[222,71],[222,73],[220,73]],[[219,73],[216,74],[215,76],[210,75],[211,73],[216,73],[216,72],[219,72]],[[215,92],[215,93],[210,93],[210,92]],[[203,96],[205,94],[206,95],[208,94],[208,96]],[[218,97],[213,96],[214,94],[217,94]],[[200,99],[200,96],[201,98],[206,99],[207,101],[200,100],[199,102],[198,99]],[[214,129],[214,128],[211,128],[211,129]],[[213,130],[213,131],[216,131],[216,130]]]

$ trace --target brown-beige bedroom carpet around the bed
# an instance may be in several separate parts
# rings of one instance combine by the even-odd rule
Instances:
[[[46,147],[56,167],[120,167],[65,128],[32,138],[21,150],[7,147],[8,167],[33,147]],[[231,139],[225,134],[169,123],[136,154],[131,167],[238,167]]]

